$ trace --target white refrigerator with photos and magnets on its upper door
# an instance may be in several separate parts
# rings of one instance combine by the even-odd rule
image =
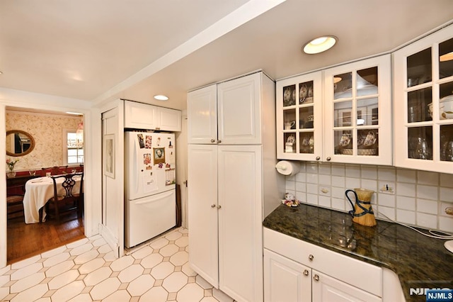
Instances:
[[[125,132],[125,246],[176,225],[174,133]]]

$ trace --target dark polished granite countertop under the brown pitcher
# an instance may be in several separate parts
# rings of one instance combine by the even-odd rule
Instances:
[[[352,223],[348,213],[282,204],[265,218],[263,226],[391,269],[398,275],[407,301],[425,301],[424,295],[410,295],[411,288],[453,289],[453,253],[444,247],[445,240],[426,237],[398,223],[377,220],[376,226],[367,227]]]

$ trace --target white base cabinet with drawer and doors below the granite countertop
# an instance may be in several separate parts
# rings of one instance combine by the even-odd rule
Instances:
[[[384,301],[381,268],[268,228],[263,235],[265,301]]]

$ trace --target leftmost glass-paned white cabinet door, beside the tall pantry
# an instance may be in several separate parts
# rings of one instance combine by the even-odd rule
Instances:
[[[321,72],[277,82],[277,158],[321,160]]]

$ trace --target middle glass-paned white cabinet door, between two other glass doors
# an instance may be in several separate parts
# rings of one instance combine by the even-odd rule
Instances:
[[[392,163],[390,79],[390,55],[326,69],[327,160]]]

